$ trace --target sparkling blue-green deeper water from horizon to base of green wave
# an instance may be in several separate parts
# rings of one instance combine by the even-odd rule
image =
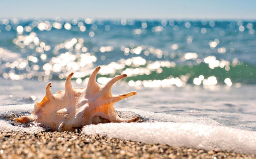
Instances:
[[[100,76],[126,73],[130,86],[256,84],[255,25],[241,20],[1,19],[0,75],[49,81],[73,71],[81,83],[101,65]]]

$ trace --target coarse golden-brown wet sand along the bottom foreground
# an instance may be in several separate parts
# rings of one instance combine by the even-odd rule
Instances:
[[[0,132],[0,158],[248,158],[254,155],[146,144],[79,132]]]

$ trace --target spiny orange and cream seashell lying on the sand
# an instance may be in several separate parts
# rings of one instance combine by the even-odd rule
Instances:
[[[14,120],[21,123],[38,122],[43,127],[49,127],[52,131],[74,131],[85,125],[106,122],[137,122],[140,117],[131,119],[120,118],[114,103],[131,97],[136,92],[121,95],[112,95],[111,88],[118,80],[126,77],[126,74],[112,78],[106,85],[96,82],[96,75],[100,70],[98,66],[91,74],[87,88],[73,88],[71,77],[68,75],[65,81],[65,90],[55,94],[51,92],[51,84],[45,88],[43,100],[35,103],[35,107],[29,116],[22,116]]]

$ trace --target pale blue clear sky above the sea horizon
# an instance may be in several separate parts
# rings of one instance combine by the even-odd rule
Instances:
[[[256,0],[3,0],[0,18],[256,20]]]

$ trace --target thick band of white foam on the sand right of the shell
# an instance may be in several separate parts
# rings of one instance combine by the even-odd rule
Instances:
[[[146,143],[256,155],[256,132],[198,123],[107,123],[84,126],[82,133]]]

